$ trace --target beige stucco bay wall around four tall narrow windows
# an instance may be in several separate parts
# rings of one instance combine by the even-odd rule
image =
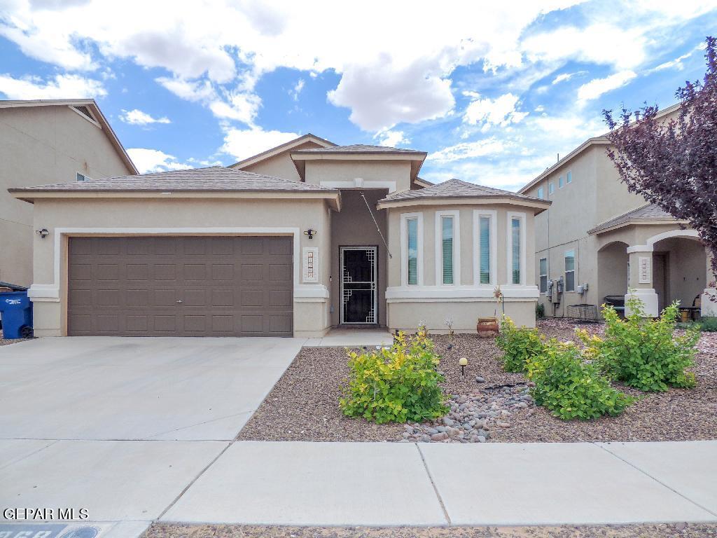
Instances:
[[[512,205],[461,205],[411,206],[386,209],[389,212],[389,248],[393,258],[389,260],[389,291],[387,299],[388,326],[390,329],[415,329],[419,321],[432,331],[445,331],[445,319],[451,318],[453,329],[474,332],[479,317],[500,316],[502,311],[493,298],[494,284],[477,285],[474,278],[473,247],[478,239],[473,237],[473,210],[496,212],[496,273],[497,283],[506,295],[505,314],[516,323],[535,325],[534,275],[534,217],[533,209]],[[460,226],[460,283],[437,285],[436,272],[436,214],[441,211],[457,211]],[[513,285],[508,275],[508,213],[525,214],[526,260],[525,284]],[[423,218],[423,285],[402,287],[401,215],[420,213]],[[419,270],[421,270],[419,268]],[[394,294],[396,297],[394,298]],[[422,297],[423,295],[423,297]]]

